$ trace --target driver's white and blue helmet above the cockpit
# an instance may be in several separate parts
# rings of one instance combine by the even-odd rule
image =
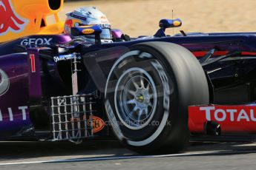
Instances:
[[[66,14],[64,33],[70,35],[71,27],[79,27],[86,25],[98,25],[102,28],[100,37],[102,42],[112,42],[111,24],[108,18],[99,11],[96,7],[79,7],[70,13]],[[94,35],[76,36],[75,38],[82,38],[85,41],[95,41]]]

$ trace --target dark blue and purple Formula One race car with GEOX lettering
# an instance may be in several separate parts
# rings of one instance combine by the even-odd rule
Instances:
[[[11,6],[2,2],[0,10]],[[38,2],[55,16],[63,3]],[[177,152],[189,137],[254,137],[256,33],[168,36],[165,29],[181,21],[163,19],[154,36],[130,39],[112,30],[114,42],[102,43],[97,25],[72,27],[80,38],[71,39],[54,29],[59,24],[50,26],[59,34],[42,34],[44,15],[28,21],[14,14],[8,34],[41,24],[35,35],[12,41],[0,32],[1,140],[79,143],[114,134],[129,149],[152,153]]]

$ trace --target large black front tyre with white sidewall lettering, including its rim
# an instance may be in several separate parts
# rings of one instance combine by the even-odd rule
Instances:
[[[177,44],[136,44],[114,63],[105,109],[116,137],[140,153],[178,152],[188,144],[188,106],[209,103],[197,58]]]

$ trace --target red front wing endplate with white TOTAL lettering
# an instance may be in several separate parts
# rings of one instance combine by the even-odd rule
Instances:
[[[256,106],[189,106],[188,127],[192,133],[203,133],[211,120],[220,124],[221,132],[256,132]]]

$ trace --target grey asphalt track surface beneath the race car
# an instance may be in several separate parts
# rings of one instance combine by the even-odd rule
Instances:
[[[256,143],[191,143],[177,154],[141,155],[116,141],[1,142],[0,169],[256,169]]]

